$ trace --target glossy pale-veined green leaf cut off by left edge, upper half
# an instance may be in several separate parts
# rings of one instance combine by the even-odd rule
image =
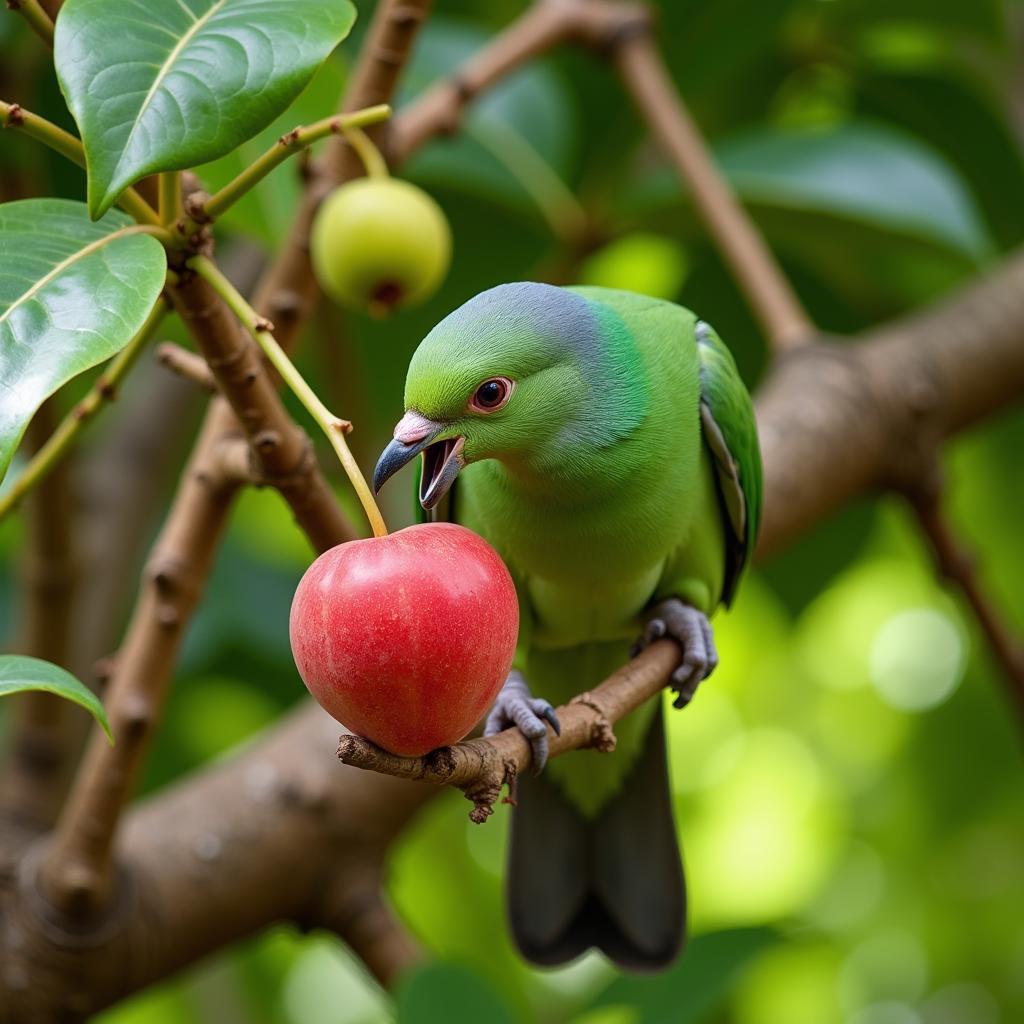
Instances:
[[[114,355],[164,287],[164,249],[83,203],[0,205],[0,478],[29,420],[61,384]]]

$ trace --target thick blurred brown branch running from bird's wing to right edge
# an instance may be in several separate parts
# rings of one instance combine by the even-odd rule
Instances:
[[[1024,394],[1024,253],[868,343],[787,352],[758,392],[759,550],[771,554],[858,495],[902,484],[940,440]]]

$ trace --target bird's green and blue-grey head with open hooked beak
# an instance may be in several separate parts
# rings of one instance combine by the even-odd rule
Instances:
[[[377,463],[374,489],[422,452],[420,503],[430,509],[471,462],[537,468],[557,464],[573,444],[622,436],[635,419],[625,423],[631,411],[611,399],[629,389],[596,387],[599,378],[624,379],[609,360],[621,347],[609,345],[616,332],[625,328],[599,304],[550,285],[501,285],[470,299],[416,350],[406,415]]]

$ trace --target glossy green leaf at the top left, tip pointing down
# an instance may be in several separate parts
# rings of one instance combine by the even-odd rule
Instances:
[[[348,0],[68,0],[54,61],[93,217],[136,178],[216,160],[269,124],[354,19]]]

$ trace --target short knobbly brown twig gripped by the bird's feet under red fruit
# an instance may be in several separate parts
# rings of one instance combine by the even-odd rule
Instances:
[[[611,727],[658,693],[678,665],[679,647],[672,640],[659,640],[596,689],[581,693],[559,708],[561,733],[555,735],[548,726],[549,758],[590,746],[602,752],[614,750]],[[529,741],[518,729],[463,740],[422,758],[388,754],[360,736],[343,735],[338,757],[355,768],[435,785],[455,785],[473,802],[469,816],[477,823],[486,821],[494,813],[502,786],[511,786],[532,759]]]

